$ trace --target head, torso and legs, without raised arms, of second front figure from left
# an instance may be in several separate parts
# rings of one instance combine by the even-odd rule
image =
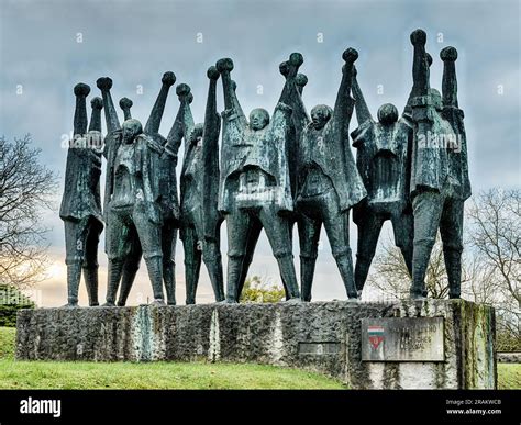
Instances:
[[[154,304],[164,305],[159,155],[162,147],[143,134],[141,123],[123,123],[121,145],[113,161],[112,194],[107,206],[109,277],[107,304],[113,305],[132,241],[138,238],[154,292]]]

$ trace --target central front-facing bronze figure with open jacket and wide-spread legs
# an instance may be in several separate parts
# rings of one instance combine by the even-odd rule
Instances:
[[[247,247],[256,243],[263,227],[288,297],[299,300],[289,224],[285,217],[293,209],[286,158],[291,109],[279,102],[271,122],[266,110],[255,109],[248,123],[233,90],[230,76],[233,61],[221,59],[217,68],[222,77],[225,107],[219,210],[228,224],[226,301],[239,301]]]

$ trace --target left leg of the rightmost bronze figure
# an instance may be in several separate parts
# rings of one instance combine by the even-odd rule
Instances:
[[[435,191],[421,191],[412,200],[414,211],[414,251],[412,257],[411,298],[425,297],[425,275],[436,241],[443,209],[443,197]]]

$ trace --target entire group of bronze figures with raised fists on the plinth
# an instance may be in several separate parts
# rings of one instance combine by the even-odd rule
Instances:
[[[280,64],[285,85],[271,116],[258,108],[248,119],[231,78],[233,61],[220,59],[207,72],[203,123],[195,124],[190,88],[178,85],[179,110],[167,137],[159,134],[159,124],[168,91],[176,82],[174,72],[164,74],[144,127],[132,118],[128,98],[119,103],[124,114],[120,124],[110,78],[97,81],[102,99],[92,99],[88,125],[86,98],[90,88],[77,85],[75,136],[69,144],[60,208],[67,306],[78,305],[81,271],[89,304],[98,305],[97,250],[103,224],[109,259],[107,306],[125,305],[141,257],[154,304],[176,304],[178,233],[185,251],[186,303],[196,302],[201,261],[215,301],[236,303],[263,228],[277,259],[287,301],[310,301],[322,224],[347,297],[355,301],[362,294],[387,220],[392,223],[396,245],[411,275],[411,298],[426,297],[425,272],[439,228],[450,297],[458,298],[463,205],[470,195],[470,184],[463,111],[457,104],[457,53],[445,47],[440,54],[444,63],[440,94],[430,87],[432,58],[425,42],[422,30],[411,34],[413,86],[403,113],[399,116],[397,108],[386,103],[378,109],[377,121],[358,86],[354,66],[358,53],[353,48],[342,56],[334,108],[319,104],[310,115],[301,97],[308,79],[298,74],[303,63],[300,54],[293,53]],[[217,107],[219,78],[224,94],[222,116]],[[101,109],[107,122],[104,139]],[[354,110],[358,127],[351,137],[356,160],[348,131]],[[178,191],[176,168],[182,141]],[[101,203],[102,156],[107,168]],[[351,210],[358,227],[354,268],[348,239]],[[223,221],[229,247],[225,279],[220,248]],[[296,223],[300,286],[292,255]]]

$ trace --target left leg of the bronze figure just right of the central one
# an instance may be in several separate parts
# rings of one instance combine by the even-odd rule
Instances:
[[[297,222],[300,243],[300,290],[302,301],[311,301],[314,266],[319,254],[319,238],[322,223],[301,215]]]

